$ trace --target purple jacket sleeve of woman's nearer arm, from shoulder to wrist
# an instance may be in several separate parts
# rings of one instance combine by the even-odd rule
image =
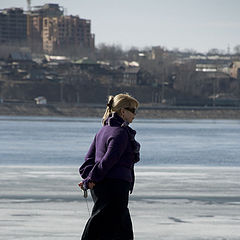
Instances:
[[[120,129],[107,141],[107,151],[102,159],[94,165],[86,181],[99,182],[108,171],[119,161],[127,148],[128,134],[124,129]]]

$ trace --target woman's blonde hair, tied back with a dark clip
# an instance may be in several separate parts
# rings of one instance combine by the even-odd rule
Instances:
[[[108,96],[106,111],[102,118],[102,123],[106,121],[110,114],[116,112],[120,114],[121,108],[138,108],[139,102],[128,93],[120,93],[116,96]]]

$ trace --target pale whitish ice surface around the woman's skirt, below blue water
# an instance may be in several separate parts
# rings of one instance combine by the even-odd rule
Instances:
[[[136,240],[239,240],[239,167],[137,167]],[[1,166],[1,240],[77,240],[89,213],[77,166]],[[91,209],[92,202],[88,198]]]

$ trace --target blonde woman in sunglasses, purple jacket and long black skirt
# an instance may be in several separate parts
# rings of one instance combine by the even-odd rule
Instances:
[[[82,189],[90,189],[94,206],[82,240],[132,240],[128,210],[134,185],[134,164],[139,161],[140,144],[129,127],[138,101],[128,94],[109,96],[102,120],[85,162],[79,168]]]

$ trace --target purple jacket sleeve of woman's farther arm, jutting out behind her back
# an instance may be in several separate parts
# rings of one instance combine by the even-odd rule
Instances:
[[[95,152],[96,152],[96,136],[85,156],[85,161],[82,166],[79,168],[79,173],[83,179],[88,177],[88,174],[92,170],[95,164]]]

